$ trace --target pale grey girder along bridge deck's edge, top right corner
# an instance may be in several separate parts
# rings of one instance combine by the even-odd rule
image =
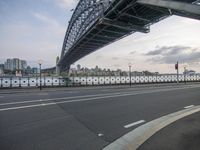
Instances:
[[[138,3],[171,9],[171,13],[200,20],[200,5],[169,0],[137,0]],[[175,10],[175,11],[173,11]]]

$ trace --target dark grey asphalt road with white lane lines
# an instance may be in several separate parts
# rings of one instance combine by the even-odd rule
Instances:
[[[0,91],[1,150],[98,150],[163,115],[200,105],[200,85]]]

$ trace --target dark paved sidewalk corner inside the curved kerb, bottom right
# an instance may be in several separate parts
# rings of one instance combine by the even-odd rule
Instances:
[[[200,112],[163,128],[138,150],[200,150]]]

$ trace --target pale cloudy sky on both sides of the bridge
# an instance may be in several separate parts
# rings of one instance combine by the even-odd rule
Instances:
[[[76,0],[1,0],[0,63],[20,58],[55,66]],[[80,59],[83,67],[175,73],[174,64],[200,72],[200,21],[172,16]]]

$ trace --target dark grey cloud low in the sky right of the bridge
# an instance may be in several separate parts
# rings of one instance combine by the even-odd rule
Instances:
[[[184,46],[164,46],[146,53],[152,56],[151,62],[160,64],[174,64],[176,61],[180,63],[196,63],[200,62],[200,49]]]

